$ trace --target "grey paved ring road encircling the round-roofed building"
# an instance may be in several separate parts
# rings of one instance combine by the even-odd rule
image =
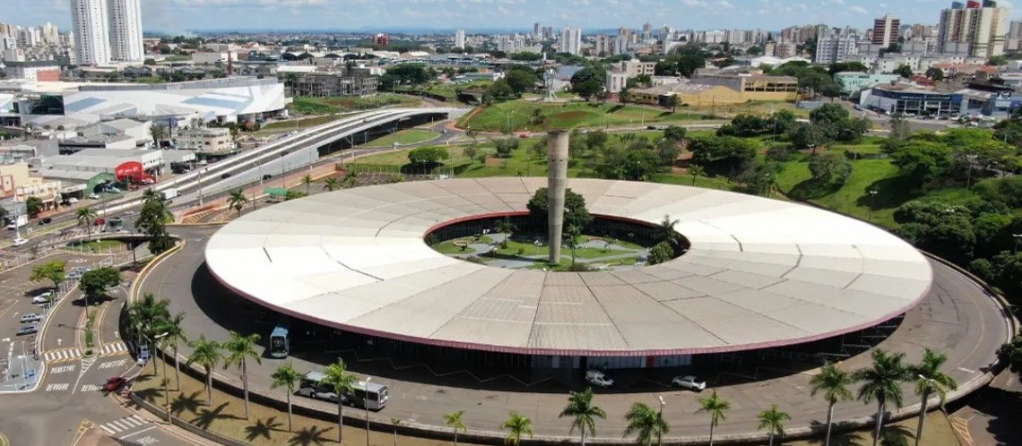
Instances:
[[[216,285],[205,272],[203,249],[207,238],[216,228],[181,228],[177,230],[188,240],[186,247],[167,261],[155,267],[141,284],[143,291],[171,300],[172,311],[184,311],[185,330],[189,334],[203,333],[207,338],[226,339],[227,326],[233,330],[257,327],[264,338],[272,326],[273,316],[267,316],[253,304],[232,300]],[[911,361],[918,360],[923,347],[945,350],[949,355],[947,373],[960,383],[979,376],[994,359],[994,350],[1004,342],[1006,323],[1000,309],[974,284],[954,270],[934,263],[934,287],[920,306],[910,311],[893,336],[880,344],[881,348],[902,351]],[[188,349],[182,350],[187,354]],[[507,416],[509,409],[518,410],[533,420],[536,433],[540,435],[563,435],[568,431],[568,422],[558,419],[557,413],[564,404],[564,394],[568,388],[544,389],[550,393],[518,391],[518,386],[498,380],[489,384],[472,382],[465,376],[434,378],[427,368],[394,370],[381,361],[359,361],[346,355],[351,368],[360,375],[374,376],[374,381],[386,383],[390,388],[390,403],[383,413],[374,415],[380,419],[396,416],[403,419],[426,424],[440,424],[442,415],[452,410],[467,409],[469,425],[477,429],[496,430]],[[322,368],[322,365],[294,359],[299,370]],[[253,389],[269,392],[269,376],[279,365],[279,360],[264,359],[261,365],[250,364],[250,380]],[[845,361],[847,368],[866,366],[866,354]],[[235,380],[233,373],[218,375]],[[722,433],[755,432],[756,414],[765,405],[776,402],[792,413],[789,427],[805,426],[825,419],[826,404],[809,396],[808,381],[804,374],[783,378],[739,384],[719,388],[722,395],[732,401],[729,420],[719,428]],[[422,382],[454,384],[458,388],[440,388]],[[512,389],[507,391],[505,389]],[[914,404],[911,386],[905,386],[905,401]],[[600,392],[598,403],[609,417],[601,423],[603,435],[615,435],[623,430],[621,415],[634,401],[656,402],[657,395],[667,401],[665,416],[671,420],[675,435],[701,434],[704,422],[701,416],[693,416],[696,411],[694,395],[666,387],[656,388],[639,385],[638,389],[615,389],[615,392],[635,393],[613,394]],[[279,391],[270,393],[279,394]],[[298,398],[301,404],[318,405],[332,410],[331,405]],[[870,415],[872,405],[849,402],[838,407],[839,417]],[[614,434],[611,434],[614,433]]]

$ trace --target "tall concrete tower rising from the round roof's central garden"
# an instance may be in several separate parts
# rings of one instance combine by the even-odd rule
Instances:
[[[550,262],[561,261],[564,234],[564,191],[568,186],[568,133],[553,131],[547,137],[547,240]]]

